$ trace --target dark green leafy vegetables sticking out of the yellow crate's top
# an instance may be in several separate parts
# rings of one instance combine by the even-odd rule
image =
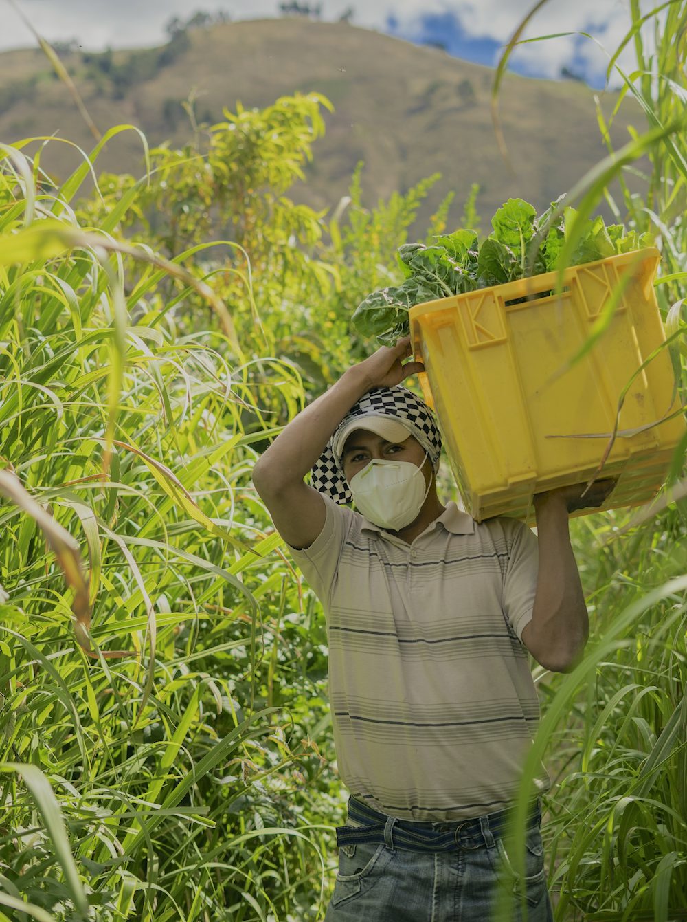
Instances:
[[[409,331],[408,312],[415,304],[437,301],[466,291],[503,285],[560,267],[560,256],[576,219],[575,208],[560,211],[559,199],[537,217],[521,198],[509,198],[492,219],[492,234],[479,242],[475,231],[460,229],[425,243],[404,243],[398,250],[402,285],[373,291],[355,310],[355,329],[392,346]],[[573,251],[571,266],[650,246],[648,234],[626,233],[622,224],[608,227],[602,218],[586,222]]]

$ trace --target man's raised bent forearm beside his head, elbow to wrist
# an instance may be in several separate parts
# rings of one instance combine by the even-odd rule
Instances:
[[[355,365],[314,400],[279,433],[253,470],[256,484],[266,480],[272,489],[302,480],[320,457],[343,417],[371,382],[362,365]]]

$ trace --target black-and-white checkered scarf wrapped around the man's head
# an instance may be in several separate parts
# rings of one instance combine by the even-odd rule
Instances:
[[[413,435],[429,455],[435,473],[439,467],[441,436],[430,408],[405,387],[375,387],[362,396],[343,417],[312,468],[311,485],[340,506],[353,502],[353,497],[343,477],[343,443],[337,444],[341,441],[337,436],[344,428],[350,429],[352,420],[360,421],[355,429],[365,429],[365,417],[390,417],[402,423],[408,434]],[[338,452],[334,451],[335,445]]]

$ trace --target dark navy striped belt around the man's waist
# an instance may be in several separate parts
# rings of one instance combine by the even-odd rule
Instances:
[[[398,820],[373,810],[367,804],[351,797],[348,799],[348,816],[360,825],[337,826],[336,844],[381,845],[413,852],[453,852],[460,848],[481,848],[494,845],[502,838],[512,818],[512,810],[499,810],[471,820],[447,822],[411,822]],[[541,824],[541,806],[537,798],[531,802],[527,828]]]

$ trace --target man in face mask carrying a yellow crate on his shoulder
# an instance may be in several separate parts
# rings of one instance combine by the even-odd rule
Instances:
[[[350,791],[327,922],[490,922],[509,873],[514,918],[552,918],[540,800],[526,874],[503,834],[539,718],[528,655],[565,672],[588,617],[568,513],[576,487],[535,500],[539,541],[437,496],[441,448],[409,339],[345,372],[299,413],[253,482],[320,597],[337,762]],[[312,483],[304,478],[313,468]],[[317,489],[315,489],[317,488]],[[358,512],[343,502],[355,502]],[[548,789],[541,769],[538,792]]]

